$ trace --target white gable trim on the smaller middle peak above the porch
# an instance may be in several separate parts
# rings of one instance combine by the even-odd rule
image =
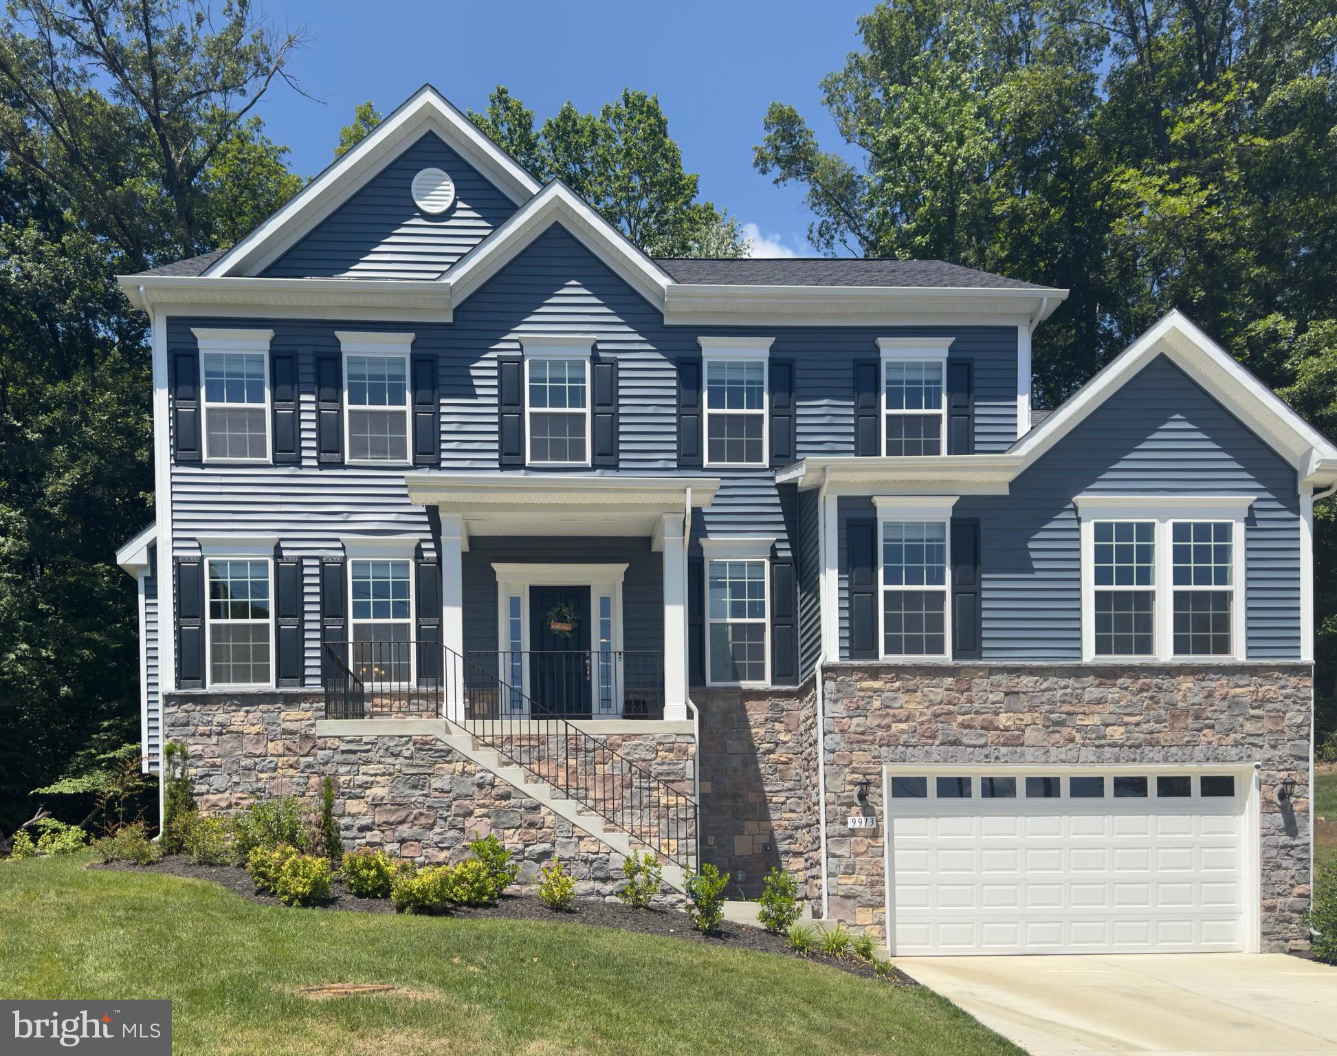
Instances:
[[[554,223],[663,310],[668,275],[564,183],[544,187],[432,285],[448,286],[452,303],[463,305]]]

